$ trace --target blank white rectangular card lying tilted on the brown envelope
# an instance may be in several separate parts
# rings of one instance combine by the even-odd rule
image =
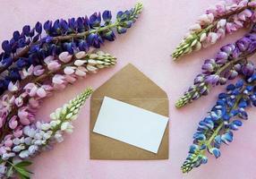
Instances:
[[[158,153],[168,118],[105,97],[93,132]]]

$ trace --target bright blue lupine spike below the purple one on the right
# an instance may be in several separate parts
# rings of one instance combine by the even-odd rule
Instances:
[[[248,119],[247,107],[256,107],[256,74],[246,80],[239,80],[226,87],[226,93],[218,95],[217,104],[211,109],[198,125],[193,135],[193,144],[189,155],[183,162],[182,171],[188,173],[194,167],[206,164],[206,151],[215,158],[221,156],[220,146],[234,139],[234,131],[242,126],[243,120]]]

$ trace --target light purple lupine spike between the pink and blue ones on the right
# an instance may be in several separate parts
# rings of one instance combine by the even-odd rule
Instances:
[[[202,73],[195,78],[194,84],[178,99],[175,106],[183,107],[201,96],[208,95],[211,87],[224,85],[226,81],[235,79],[238,74],[251,75],[254,65],[246,59],[255,52],[256,31],[253,27],[251,33],[234,44],[221,47],[215,58],[205,61],[201,67]]]

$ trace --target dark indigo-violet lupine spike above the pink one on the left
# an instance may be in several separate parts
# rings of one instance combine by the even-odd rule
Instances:
[[[138,19],[142,11],[142,4],[138,3],[129,11],[118,12],[116,21],[112,21],[110,11],[93,13],[88,18],[46,21],[43,25],[38,22],[34,28],[26,25],[22,32],[15,31],[13,38],[4,40],[0,55],[1,75],[0,95],[7,90],[11,81],[21,81],[19,71],[31,64],[41,65],[48,55],[59,55],[64,51],[70,55],[79,51],[88,51],[90,47],[99,48],[105,40],[114,41],[115,31],[125,33]],[[47,32],[46,37],[41,37],[42,28]],[[35,31],[37,33],[35,33]],[[17,52],[20,51],[20,52]]]

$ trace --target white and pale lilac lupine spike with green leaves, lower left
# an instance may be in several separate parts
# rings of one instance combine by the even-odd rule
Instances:
[[[50,149],[55,142],[63,141],[64,132],[72,132],[72,122],[77,118],[80,108],[91,92],[89,88],[63,107],[56,109],[50,115],[51,122],[38,121],[36,124],[26,125],[22,128],[21,136],[5,139],[5,146],[8,144],[9,149],[0,147],[0,177],[11,177],[15,174],[30,177],[30,172],[25,167],[31,163],[26,159],[36,156],[42,150]],[[25,165],[25,161],[28,165]]]

